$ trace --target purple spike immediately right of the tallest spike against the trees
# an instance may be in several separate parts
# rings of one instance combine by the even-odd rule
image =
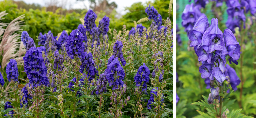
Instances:
[[[104,16],[99,22],[99,30],[102,36],[106,35],[109,30],[109,18]]]

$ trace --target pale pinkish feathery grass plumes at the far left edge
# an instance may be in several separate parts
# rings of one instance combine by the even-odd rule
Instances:
[[[2,20],[3,16],[7,15],[8,13],[5,13],[5,11],[0,13],[0,20]],[[9,59],[19,59],[20,53],[22,50],[18,50],[20,48],[20,42],[18,42],[19,34],[15,33],[17,31],[21,31],[20,24],[23,23],[22,18],[24,18],[24,15],[21,15],[17,18],[15,18],[10,23],[0,23],[0,36],[1,36],[1,42],[0,42],[0,57],[2,58],[0,61],[2,68],[6,66]],[[7,26],[6,29],[3,29],[2,27]],[[17,61],[17,64],[20,65],[22,62],[19,60]]]

